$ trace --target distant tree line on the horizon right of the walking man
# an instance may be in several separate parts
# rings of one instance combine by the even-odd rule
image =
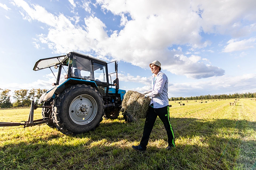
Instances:
[[[237,99],[237,98],[256,98],[256,92],[254,93],[234,93],[234,94],[222,94],[222,95],[201,95],[191,97],[171,97],[169,101],[176,100],[208,100],[208,99]]]

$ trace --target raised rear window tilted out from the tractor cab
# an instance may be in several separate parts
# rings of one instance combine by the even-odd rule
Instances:
[[[66,55],[40,59],[35,63],[33,70],[34,71],[42,70],[48,67],[59,65],[60,63],[64,63],[64,65],[66,65],[66,60],[67,60]]]

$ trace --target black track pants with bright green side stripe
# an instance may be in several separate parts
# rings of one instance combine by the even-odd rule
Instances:
[[[161,119],[165,126],[165,130],[168,136],[168,145],[175,147],[173,128],[171,127],[170,123],[169,106],[162,108],[152,108],[149,106],[143,130],[143,137],[141,139],[140,145],[143,148],[146,148],[149,142],[150,133],[153,129],[157,116]]]

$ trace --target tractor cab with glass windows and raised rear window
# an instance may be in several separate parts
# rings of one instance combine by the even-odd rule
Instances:
[[[115,63],[115,71],[117,76],[117,61]],[[112,63],[112,62],[110,62]],[[99,60],[94,57],[90,57],[77,52],[70,52],[69,54],[57,57],[50,57],[40,59],[35,63],[34,71],[50,68],[51,72],[54,74],[52,67],[58,69],[58,75],[56,78],[56,83],[53,86],[58,86],[60,80],[65,81],[65,84],[89,84],[92,87],[97,88],[101,93],[103,98],[108,97],[109,88],[115,86],[115,91],[119,89],[118,78],[114,79],[113,84],[111,84],[111,74],[108,74],[107,62]],[[61,72],[65,72],[65,79],[61,79]],[[109,81],[110,79],[110,81]],[[62,86],[63,84],[59,85]],[[63,88],[63,87],[62,87]],[[64,87],[65,89],[66,87]],[[113,90],[111,90],[112,92]]]

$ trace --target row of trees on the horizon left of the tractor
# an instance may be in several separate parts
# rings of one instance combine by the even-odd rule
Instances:
[[[21,89],[15,90],[13,93],[14,103],[11,103],[11,90],[0,88],[0,108],[11,108],[11,107],[29,107],[31,101],[34,100],[38,104],[39,98],[47,92],[47,89]]]

